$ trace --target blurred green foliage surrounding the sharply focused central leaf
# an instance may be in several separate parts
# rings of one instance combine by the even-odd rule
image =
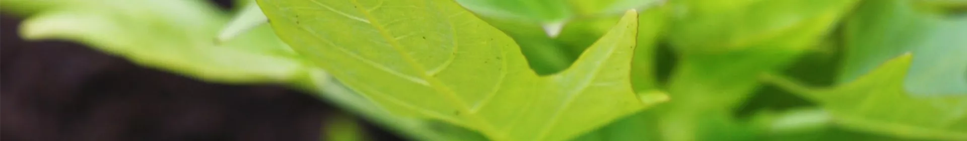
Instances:
[[[631,85],[671,100],[572,140],[967,140],[967,1],[455,1],[512,38],[542,75],[569,69],[621,12],[639,10]],[[387,111],[309,65],[318,60],[268,26],[213,42],[229,14],[200,1],[0,0],[0,8],[29,17],[29,40],[84,42],[214,82],[291,84],[411,139],[487,140],[479,129]]]

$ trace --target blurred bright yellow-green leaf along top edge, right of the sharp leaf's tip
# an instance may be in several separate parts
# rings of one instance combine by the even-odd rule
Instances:
[[[681,0],[670,32],[677,49],[805,49],[858,0]],[[764,45],[768,43],[769,45]],[[781,47],[775,47],[781,46]]]

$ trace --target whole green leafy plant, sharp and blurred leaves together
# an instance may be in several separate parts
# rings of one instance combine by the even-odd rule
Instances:
[[[237,3],[0,10],[26,40],[286,84],[414,140],[967,140],[960,0]]]

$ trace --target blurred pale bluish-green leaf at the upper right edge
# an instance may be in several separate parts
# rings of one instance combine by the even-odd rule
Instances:
[[[940,4],[907,0],[866,1],[846,24],[846,55],[838,82],[872,71],[913,52],[903,85],[914,95],[967,94],[967,18],[942,14]]]

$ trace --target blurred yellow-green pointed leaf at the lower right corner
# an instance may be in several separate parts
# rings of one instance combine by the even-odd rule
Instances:
[[[818,102],[843,127],[906,138],[967,140],[967,97],[916,97],[903,90],[913,58],[902,55],[833,89],[806,88],[776,75],[767,80]]]

